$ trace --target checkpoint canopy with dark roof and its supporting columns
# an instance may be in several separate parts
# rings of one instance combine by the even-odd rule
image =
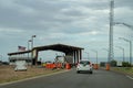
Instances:
[[[18,55],[22,56],[22,54],[31,53],[30,58],[33,61],[32,64],[34,65],[38,62],[39,52],[48,51],[48,50],[62,52],[65,55],[72,56],[73,57],[73,64],[75,64],[80,59],[82,59],[82,50],[84,50],[84,48],[76,47],[76,46],[71,46],[71,45],[65,45],[65,44],[52,44],[52,45],[37,46],[37,47],[33,47],[32,50],[24,51],[24,52],[8,53],[8,55],[9,55],[9,59],[10,59],[10,58],[16,57]]]

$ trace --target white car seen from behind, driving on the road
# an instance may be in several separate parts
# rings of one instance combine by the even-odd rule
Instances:
[[[90,74],[93,74],[92,64],[88,59],[81,59],[76,65],[76,73],[80,72],[89,72]]]

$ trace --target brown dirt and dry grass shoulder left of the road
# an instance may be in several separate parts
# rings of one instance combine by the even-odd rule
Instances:
[[[31,78],[40,75],[48,75],[64,69],[47,69],[42,67],[28,67],[27,72],[14,72],[13,66],[0,66],[0,84],[16,81],[20,79]]]

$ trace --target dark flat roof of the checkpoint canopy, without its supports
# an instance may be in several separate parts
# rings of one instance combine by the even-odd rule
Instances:
[[[84,48],[71,46],[71,45],[65,45],[65,44],[52,44],[52,45],[37,46],[37,47],[33,47],[33,50],[37,50],[37,51],[52,50],[52,51],[69,53],[72,51],[84,50]],[[8,53],[8,55],[18,55],[18,54],[24,54],[24,53],[30,53],[30,52],[31,51],[14,52],[14,53]]]

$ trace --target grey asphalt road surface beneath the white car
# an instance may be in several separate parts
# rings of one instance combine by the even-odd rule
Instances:
[[[106,70],[76,74],[75,69],[0,86],[0,88],[133,88],[133,78]]]

